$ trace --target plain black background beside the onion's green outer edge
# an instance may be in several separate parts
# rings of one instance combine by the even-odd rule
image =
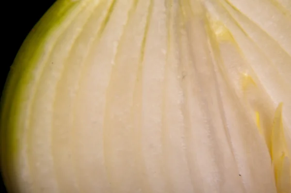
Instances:
[[[25,37],[56,0],[8,0],[1,2],[1,65],[0,90],[2,93],[10,65]],[[1,129],[1,128],[0,128]],[[0,192],[7,193],[0,178]],[[4,191],[3,191],[4,190]]]

